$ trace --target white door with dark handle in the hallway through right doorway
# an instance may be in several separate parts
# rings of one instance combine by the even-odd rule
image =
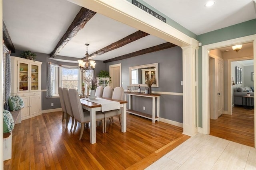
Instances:
[[[217,100],[218,100],[218,117],[223,114],[224,110],[224,96],[223,96],[223,59],[218,58],[217,64]]]

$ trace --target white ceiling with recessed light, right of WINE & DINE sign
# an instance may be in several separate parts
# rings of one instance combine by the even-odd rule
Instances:
[[[256,18],[253,0],[144,0],[196,35]]]

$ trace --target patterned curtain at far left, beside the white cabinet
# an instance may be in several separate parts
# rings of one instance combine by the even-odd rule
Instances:
[[[11,96],[11,86],[12,86],[12,72],[11,72],[11,55],[10,53],[6,53],[5,59],[5,96],[4,99],[6,104],[4,109],[9,110],[8,106],[8,98]]]

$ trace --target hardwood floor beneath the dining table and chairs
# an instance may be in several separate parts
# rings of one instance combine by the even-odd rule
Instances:
[[[74,134],[62,122],[62,112],[44,113],[17,124],[12,132],[12,159],[4,170],[27,169],[144,169],[189,137],[182,128],[127,114],[127,131],[118,119],[108,121],[107,133],[96,128],[96,144],[90,144],[86,127]]]

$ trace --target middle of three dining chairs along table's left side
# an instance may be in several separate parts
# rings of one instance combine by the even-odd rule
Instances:
[[[66,111],[67,111],[66,127],[68,127],[69,119],[70,119],[70,117],[72,117],[72,124],[71,124],[71,128],[70,128],[70,132],[72,132],[75,118],[74,118],[73,111],[71,108],[70,98],[69,98],[69,94],[68,94],[68,88],[62,88],[62,93],[63,93],[64,102],[65,102]]]

